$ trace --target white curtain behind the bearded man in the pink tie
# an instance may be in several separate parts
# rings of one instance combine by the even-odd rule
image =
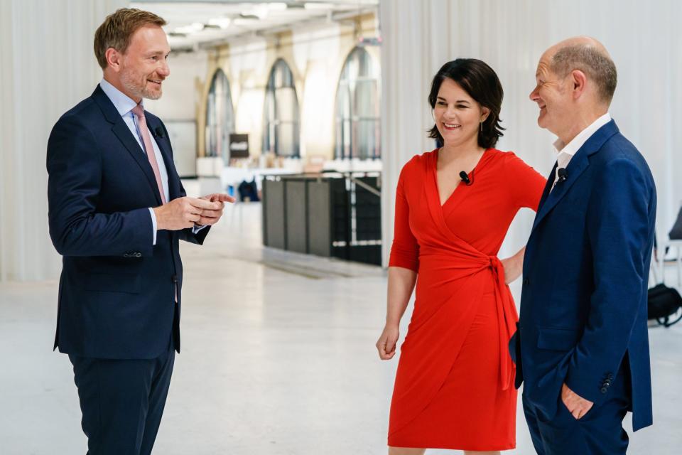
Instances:
[[[0,1],[0,281],[58,276],[48,235],[48,136],[102,77],[94,31],[128,3]]]

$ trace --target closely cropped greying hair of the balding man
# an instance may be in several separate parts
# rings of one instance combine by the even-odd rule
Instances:
[[[592,45],[567,45],[553,55],[550,69],[558,77],[566,77],[570,71],[580,70],[597,85],[600,100],[611,104],[616,91],[618,75],[613,60]]]

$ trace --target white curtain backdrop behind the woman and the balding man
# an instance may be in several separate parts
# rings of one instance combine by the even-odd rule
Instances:
[[[556,157],[552,134],[537,127],[528,98],[543,50],[575,35],[594,36],[610,51],[618,87],[610,112],[622,133],[644,154],[659,196],[660,240],[682,204],[682,33],[677,0],[380,0],[382,156],[384,159],[384,265],[393,239],[399,171],[431,150],[433,126],[426,97],[443,63],[485,60],[504,87],[501,117],[507,128],[498,148],[512,150],[547,175]],[[519,213],[500,256],[526,242],[534,214]]]

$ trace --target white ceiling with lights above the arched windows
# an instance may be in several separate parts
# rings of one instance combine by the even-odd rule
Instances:
[[[178,1],[137,0],[168,22],[164,27],[174,50],[229,41],[250,33],[276,31],[296,23],[335,21],[348,14],[377,11],[379,0]]]

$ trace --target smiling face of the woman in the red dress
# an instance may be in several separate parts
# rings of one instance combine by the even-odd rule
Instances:
[[[481,107],[457,82],[449,77],[443,79],[433,107],[433,119],[446,145],[477,143],[480,122],[488,113],[489,109]]]

